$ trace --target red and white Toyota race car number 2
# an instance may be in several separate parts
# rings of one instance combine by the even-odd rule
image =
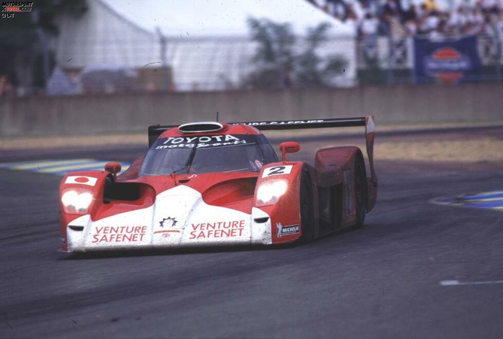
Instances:
[[[261,133],[347,126],[365,126],[369,177],[358,147],[319,149],[312,166],[286,159],[297,142],[279,159]],[[378,189],[373,143],[372,116],[150,126],[124,173],[111,162],[63,177],[60,251],[271,245],[362,225]]]

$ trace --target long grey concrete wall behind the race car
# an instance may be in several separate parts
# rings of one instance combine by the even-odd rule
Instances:
[[[146,131],[152,124],[375,115],[393,123],[503,120],[503,84],[127,93],[0,99],[0,137]]]

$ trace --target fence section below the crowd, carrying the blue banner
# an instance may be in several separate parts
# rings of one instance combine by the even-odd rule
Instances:
[[[494,35],[361,37],[356,54],[360,84],[503,81],[502,40]],[[418,76],[425,67],[429,77]]]

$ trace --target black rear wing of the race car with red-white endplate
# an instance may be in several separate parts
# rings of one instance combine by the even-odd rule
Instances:
[[[365,126],[365,139],[367,142],[367,155],[370,166],[370,179],[376,186],[377,177],[374,170],[374,116],[359,118],[335,118],[335,119],[316,119],[316,120],[291,120],[291,121],[248,121],[234,122],[232,124],[249,125],[259,130],[281,130],[281,129],[304,129],[304,128],[329,128],[329,127],[354,127]],[[152,143],[169,128],[170,126],[149,126],[149,147]]]

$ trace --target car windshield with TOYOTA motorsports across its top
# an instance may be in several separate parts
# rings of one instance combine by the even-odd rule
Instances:
[[[159,138],[143,160],[139,175],[258,172],[264,164],[277,161],[264,136]]]

